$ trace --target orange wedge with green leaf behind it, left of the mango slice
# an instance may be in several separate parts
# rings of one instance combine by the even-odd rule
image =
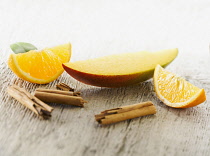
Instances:
[[[11,54],[10,69],[23,80],[46,84],[57,79],[64,71],[62,63],[69,62],[71,45],[64,44],[43,50]]]

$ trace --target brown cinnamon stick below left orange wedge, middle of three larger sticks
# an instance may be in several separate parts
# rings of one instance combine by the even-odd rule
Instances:
[[[83,100],[82,97],[74,96],[68,91],[36,89],[34,92],[34,96],[44,102],[49,103],[59,103],[80,107],[84,107],[84,103],[87,103],[87,101]]]

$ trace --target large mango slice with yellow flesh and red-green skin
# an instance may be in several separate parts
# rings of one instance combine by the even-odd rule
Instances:
[[[66,72],[93,86],[121,87],[145,81],[153,76],[157,64],[167,66],[178,49],[109,55],[96,59],[64,63]]]

